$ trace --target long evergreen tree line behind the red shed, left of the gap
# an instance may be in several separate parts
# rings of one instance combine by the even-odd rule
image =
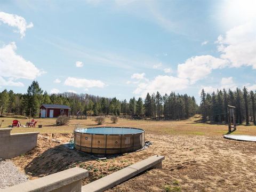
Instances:
[[[126,115],[133,118],[150,119],[186,119],[198,113],[195,98],[187,94],[161,95],[159,92],[147,94],[146,98],[129,102],[114,98],[99,97],[90,94],[60,93],[48,94],[43,92],[38,82],[33,81],[27,93],[14,93],[4,90],[0,93],[0,115],[15,114],[31,117],[39,116],[42,104],[67,105],[71,108],[70,115],[98,116],[98,115]]]

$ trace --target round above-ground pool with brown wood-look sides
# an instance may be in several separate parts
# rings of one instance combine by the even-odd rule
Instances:
[[[77,129],[75,148],[87,153],[117,154],[141,149],[145,131],[130,127],[92,127]]]

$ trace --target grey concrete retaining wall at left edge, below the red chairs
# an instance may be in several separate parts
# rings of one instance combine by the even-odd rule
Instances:
[[[37,145],[39,132],[11,134],[11,130],[10,128],[0,129],[0,158],[2,159],[19,156]]]

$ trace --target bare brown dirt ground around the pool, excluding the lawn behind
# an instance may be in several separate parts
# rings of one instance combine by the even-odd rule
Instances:
[[[47,139],[46,139],[47,137]],[[109,191],[253,191],[256,186],[256,143],[222,136],[146,134],[148,149],[104,161],[70,150],[52,139],[69,140],[70,134],[40,134],[38,146],[14,158],[31,179],[69,167],[89,170],[83,184],[105,177],[151,155],[164,155],[163,169],[153,169]]]

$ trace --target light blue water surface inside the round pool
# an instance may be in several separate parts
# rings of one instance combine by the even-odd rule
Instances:
[[[141,133],[144,130],[132,129],[125,127],[93,127],[93,128],[83,128],[78,129],[78,133],[89,133],[89,134],[135,134]]]

